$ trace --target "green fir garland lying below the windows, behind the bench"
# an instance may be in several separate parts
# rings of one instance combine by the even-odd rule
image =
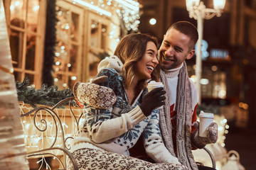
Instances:
[[[36,104],[54,106],[65,98],[73,97],[73,91],[69,88],[58,91],[58,86],[47,86],[46,84],[43,84],[41,89],[36,90],[29,86],[29,84],[28,79],[24,79],[23,82],[16,82],[16,89],[18,101],[28,103],[33,108],[37,107]],[[68,102],[63,104],[68,104]]]

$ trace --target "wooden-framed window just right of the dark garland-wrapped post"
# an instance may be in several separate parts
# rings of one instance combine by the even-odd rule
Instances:
[[[58,1],[56,5],[54,84],[59,89],[72,88],[76,81],[80,81],[83,11],[65,1]]]

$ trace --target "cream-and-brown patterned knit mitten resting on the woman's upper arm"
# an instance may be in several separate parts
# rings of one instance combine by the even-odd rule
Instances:
[[[107,77],[97,77],[89,83],[76,82],[73,86],[73,94],[80,104],[86,104],[95,108],[110,108],[116,101],[114,91],[98,84],[107,81]]]

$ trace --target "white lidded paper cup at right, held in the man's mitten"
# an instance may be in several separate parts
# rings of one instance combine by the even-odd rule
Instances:
[[[199,136],[201,137],[207,137],[206,129],[210,125],[210,123],[213,122],[214,115],[213,113],[204,113],[203,111],[199,114]]]

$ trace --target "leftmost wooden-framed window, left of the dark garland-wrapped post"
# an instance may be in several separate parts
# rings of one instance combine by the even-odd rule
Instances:
[[[23,81],[28,78],[38,87],[41,86],[43,58],[39,46],[44,38],[44,33],[38,30],[44,24],[39,16],[46,11],[45,3],[40,0],[4,1],[15,79]]]

